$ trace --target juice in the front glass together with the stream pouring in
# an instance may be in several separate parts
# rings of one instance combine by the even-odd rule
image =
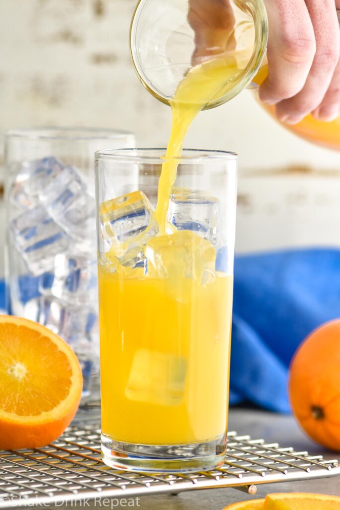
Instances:
[[[177,160],[199,111],[239,72],[219,57],[188,72],[171,101],[173,123],[159,181],[159,236],[168,277],[99,265],[102,433],[150,445],[210,441],[227,427],[232,276],[215,271],[215,247],[167,222]],[[176,248],[178,240],[179,247]],[[195,278],[184,275],[185,248]],[[110,253],[107,254],[110,257]],[[204,283],[203,271],[209,278]]]

